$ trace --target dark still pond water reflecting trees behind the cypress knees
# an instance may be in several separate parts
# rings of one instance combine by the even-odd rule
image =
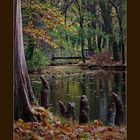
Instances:
[[[102,120],[105,124],[113,124],[115,118],[115,108],[111,98],[114,90],[126,108],[126,73],[123,71],[91,71],[68,75],[45,75],[50,85],[49,102],[51,110],[59,113],[59,100],[76,103],[76,117],[79,119],[80,96],[86,95],[89,100],[90,121],[95,119]],[[37,81],[38,79],[38,81]],[[39,77],[32,81],[35,96],[39,99],[41,82]]]

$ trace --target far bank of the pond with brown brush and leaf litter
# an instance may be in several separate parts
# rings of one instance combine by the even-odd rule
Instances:
[[[85,63],[82,60],[55,61],[42,70],[32,70],[30,74],[62,74],[80,73],[91,70],[123,70],[126,71],[126,63],[114,61],[110,53],[95,54],[87,58]],[[72,71],[72,72],[71,72]]]

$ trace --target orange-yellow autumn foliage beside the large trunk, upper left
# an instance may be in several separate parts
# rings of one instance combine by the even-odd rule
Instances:
[[[23,32],[38,41],[47,42],[51,46],[53,43],[49,33],[57,26],[64,23],[62,14],[56,7],[39,0],[29,0],[22,2]],[[57,30],[55,29],[57,32]]]

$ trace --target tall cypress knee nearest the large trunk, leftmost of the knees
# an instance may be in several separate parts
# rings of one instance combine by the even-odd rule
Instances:
[[[48,96],[50,93],[50,88],[47,80],[45,77],[40,76],[41,82],[42,82],[42,89],[41,89],[41,106],[45,109],[49,106]]]

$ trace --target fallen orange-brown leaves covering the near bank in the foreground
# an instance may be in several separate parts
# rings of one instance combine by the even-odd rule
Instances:
[[[100,120],[80,125],[35,107],[40,122],[14,122],[14,140],[126,140],[126,126],[105,126]]]

